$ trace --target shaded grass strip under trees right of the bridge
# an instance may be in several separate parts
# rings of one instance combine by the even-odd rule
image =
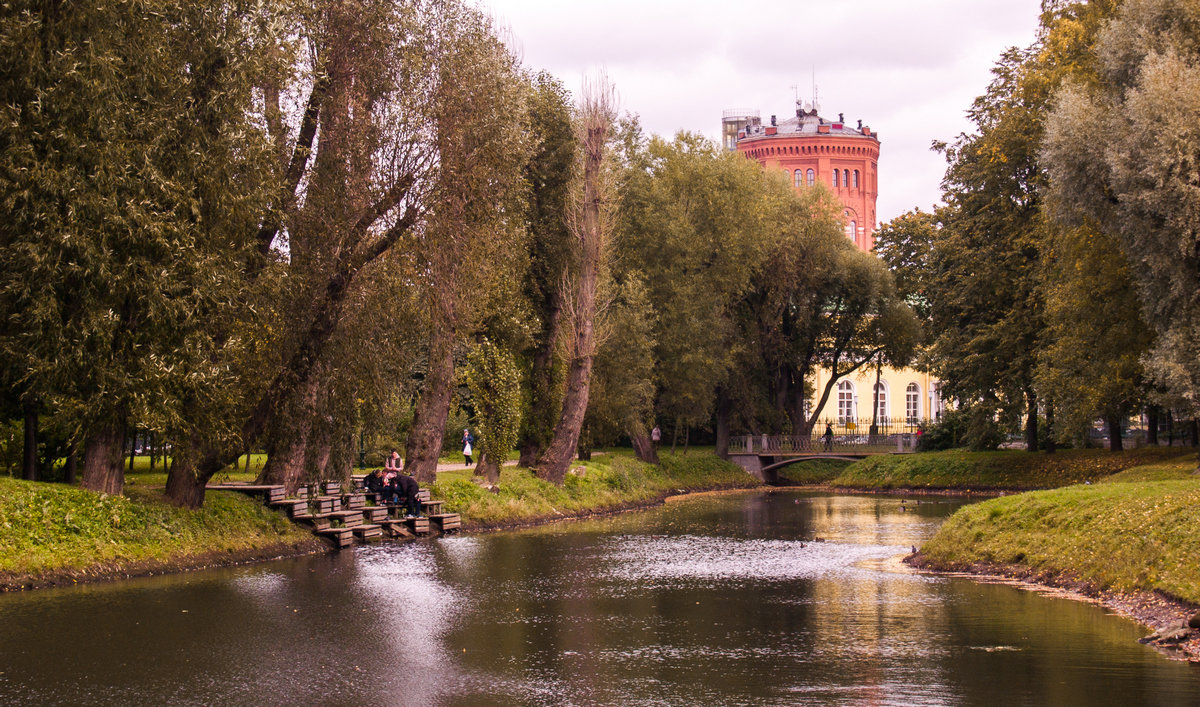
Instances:
[[[1103,449],[1028,451],[930,451],[865,459],[829,481],[852,489],[1056,489],[1097,481],[1130,467],[1174,462],[1178,448],[1145,448],[1112,454]]]

